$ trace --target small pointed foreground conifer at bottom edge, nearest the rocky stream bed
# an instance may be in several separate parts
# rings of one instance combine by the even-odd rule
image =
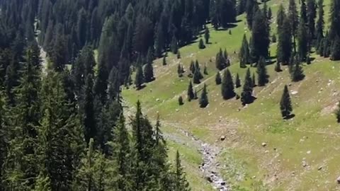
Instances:
[[[181,159],[179,158],[179,151],[176,152],[176,170],[174,172],[174,190],[176,191],[190,191],[189,183],[186,180],[186,174],[183,173],[181,166]]]

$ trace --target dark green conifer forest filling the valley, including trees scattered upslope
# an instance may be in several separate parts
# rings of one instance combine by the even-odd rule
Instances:
[[[157,80],[154,59],[166,65],[167,52],[180,58],[179,47],[202,35],[204,49],[206,25],[224,30],[242,13],[251,37],[244,35],[237,53],[239,66],[248,69],[244,84],[238,74],[233,80],[227,51],[217,52],[222,98],[254,102],[253,88],[268,83],[271,42],[278,42],[276,71],[288,65],[291,80],[301,81],[301,64],[310,64],[312,51],[340,59],[340,1],[332,1],[329,28],[322,0],[299,6],[294,0],[287,11],[280,5],[273,32],[265,1],[1,0],[0,191],[190,190],[180,154],[174,164],[168,161],[159,118],[152,125],[140,102],[134,116],[123,115],[121,88],[139,90]],[[185,71],[179,64],[178,76],[185,72],[192,78],[187,100],[207,107],[207,87],[200,96],[193,88],[206,66],[196,60]],[[234,88],[242,85],[237,95]],[[287,86],[280,110],[285,119],[293,111]]]

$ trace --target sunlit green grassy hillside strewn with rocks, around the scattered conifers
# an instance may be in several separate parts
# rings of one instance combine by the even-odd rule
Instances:
[[[280,1],[268,1],[273,10],[272,33],[275,32],[275,16]],[[288,2],[284,2],[287,4]],[[328,20],[329,0],[325,1],[325,19]],[[270,82],[265,87],[254,88],[256,101],[243,108],[240,100],[222,100],[220,86],[215,85],[215,54],[226,48],[232,58],[229,67],[232,75],[237,73],[242,82],[246,69],[240,69],[237,52],[244,33],[250,36],[244,16],[229,30],[210,29],[210,42],[204,50],[198,42],[181,48],[182,59],[169,54],[168,65],[162,59],[154,62],[156,81],[135,91],[125,89],[123,98],[130,105],[142,101],[145,113],[151,118],[162,116],[163,130],[169,140],[170,158],[179,149],[193,190],[210,190],[198,166],[201,156],[191,144],[191,139],[180,129],[193,133],[200,140],[222,148],[218,157],[220,171],[229,184],[240,190],[336,190],[337,168],[340,161],[340,126],[336,123],[334,110],[339,101],[340,63],[330,62],[313,55],[314,61],[304,65],[305,79],[293,83],[288,69],[277,73],[268,65]],[[211,27],[211,26],[210,26]],[[197,40],[198,41],[198,40]],[[271,56],[276,54],[276,44],[271,45]],[[190,80],[186,72],[177,76],[177,66],[183,64],[186,71],[191,60],[198,59],[201,68],[208,67],[208,75],[196,86],[208,85],[208,108],[199,108],[198,101],[185,102],[179,106],[178,98],[186,98]],[[251,68],[255,71],[255,68]],[[289,85],[295,117],[283,121],[279,101],[283,86]],[[240,93],[242,88],[237,89]],[[200,91],[198,92],[200,94]],[[221,135],[227,139],[220,141]],[[267,146],[263,147],[262,142]],[[304,164],[305,165],[302,165]]]

